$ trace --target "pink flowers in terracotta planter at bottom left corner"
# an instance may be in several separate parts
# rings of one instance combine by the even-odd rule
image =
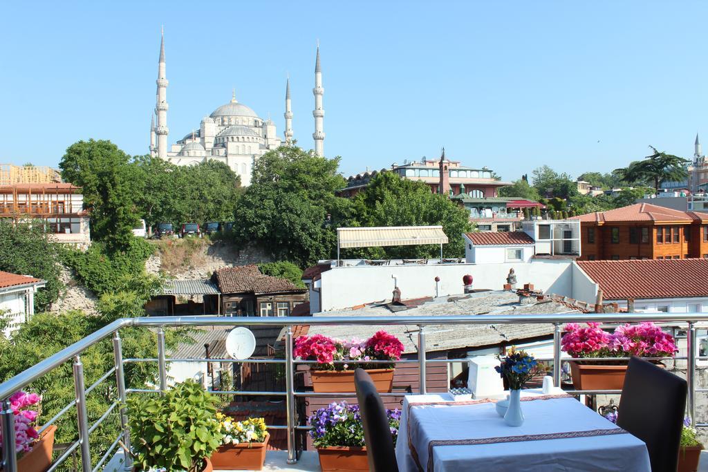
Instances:
[[[22,454],[17,461],[18,471],[44,472],[52,464],[57,427],[51,425],[41,434],[35,429],[41,401],[42,397],[37,393],[24,391],[13,393],[10,397],[10,408],[15,415],[15,454]],[[0,434],[0,456],[2,444]]]

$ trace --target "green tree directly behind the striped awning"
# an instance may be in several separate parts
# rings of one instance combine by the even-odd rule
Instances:
[[[379,173],[366,190],[354,199],[353,219],[348,226],[429,226],[442,225],[449,243],[443,255],[464,255],[462,234],[472,230],[469,212],[445,195],[430,192],[428,185],[401,179],[391,172]],[[389,246],[375,250],[346,251],[358,255],[387,258],[435,258],[437,246]]]

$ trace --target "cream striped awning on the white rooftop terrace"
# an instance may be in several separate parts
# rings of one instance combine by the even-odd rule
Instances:
[[[339,247],[369,248],[447,243],[442,226],[379,226],[337,228]]]

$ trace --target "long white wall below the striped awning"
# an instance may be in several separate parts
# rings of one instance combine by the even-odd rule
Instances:
[[[571,260],[532,260],[531,263],[332,267],[321,274],[321,311],[391,300],[392,275],[398,278],[404,299],[434,297],[435,277],[440,277],[440,296],[461,294],[462,277],[467,274],[474,278],[475,289],[501,290],[512,267],[518,287],[530,282],[544,292],[572,297],[571,265]]]

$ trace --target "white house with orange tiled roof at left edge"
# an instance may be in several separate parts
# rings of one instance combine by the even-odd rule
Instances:
[[[9,319],[3,335],[10,337],[35,313],[35,293],[47,284],[29,275],[0,271],[0,314]]]

